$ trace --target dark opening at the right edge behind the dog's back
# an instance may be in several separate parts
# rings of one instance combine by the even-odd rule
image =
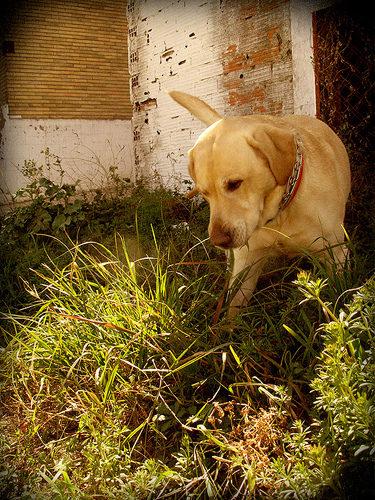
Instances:
[[[355,8],[353,7],[353,4]],[[345,144],[352,193],[346,228],[361,250],[375,246],[375,30],[373,8],[338,2],[314,14],[317,116]]]

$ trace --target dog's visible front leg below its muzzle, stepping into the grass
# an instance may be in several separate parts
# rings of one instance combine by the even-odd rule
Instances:
[[[249,301],[263,266],[270,256],[269,248],[254,248],[250,242],[247,246],[231,251],[229,294],[232,298],[228,310],[230,318],[233,318],[239,312],[239,308]]]

